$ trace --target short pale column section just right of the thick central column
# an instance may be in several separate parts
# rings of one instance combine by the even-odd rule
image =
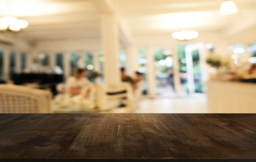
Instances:
[[[139,68],[139,63],[138,63],[138,50],[135,47],[127,47],[126,49],[126,64],[125,64],[125,69],[127,72],[128,76],[134,76],[134,73],[137,71]]]

